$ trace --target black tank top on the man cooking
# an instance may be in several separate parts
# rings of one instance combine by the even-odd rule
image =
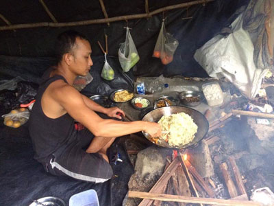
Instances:
[[[34,159],[40,162],[46,161],[47,157],[52,155],[53,152],[76,139],[74,119],[68,113],[52,119],[42,111],[42,95],[49,87],[49,84],[56,80],[66,82],[63,76],[53,76],[40,84],[36,102],[29,117],[29,135],[34,146]]]

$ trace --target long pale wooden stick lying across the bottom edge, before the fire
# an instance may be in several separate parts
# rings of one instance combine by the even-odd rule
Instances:
[[[149,192],[129,191],[129,198],[149,198],[151,200],[171,201],[180,203],[202,203],[202,204],[215,204],[223,206],[260,206],[260,203],[253,201],[232,201],[214,198],[197,198],[192,196],[178,196],[172,194],[156,194]]]

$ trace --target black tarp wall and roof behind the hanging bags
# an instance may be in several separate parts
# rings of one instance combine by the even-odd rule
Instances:
[[[17,10],[19,10],[19,8],[23,10],[23,5],[27,6],[26,2],[27,1],[18,2]],[[126,1],[115,1],[114,3],[109,0],[104,2],[110,16],[137,14],[144,12],[145,9],[144,1],[130,1],[130,3]],[[160,74],[163,73],[164,76],[183,75],[206,77],[206,71],[195,62],[193,54],[196,49],[201,47],[206,43],[206,41],[210,40],[214,34],[219,33],[223,27],[232,23],[234,19],[229,19],[229,17],[234,14],[237,8],[241,5],[247,5],[248,2],[249,0],[219,0],[206,3],[205,6],[193,5],[190,8],[164,12],[164,18],[166,18],[166,30],[173,34],[173,36],[179,41],[179,47],[175,52],[173,62],[166,66],[162,65],[158,58],[152,57],[153,48],[160,32],[163,14],[158,14],[148,19],[134,19],[128,21],[128,26],[132,28],[132,30],[130,30],[132,38],[134,39],[134,43],[136,44],[140,55],[140,61],[137,63],[134,76],[160,76]],[[32,5],[32,3],[29,2],[29,5]],[[92,16],[91,19],[96,19],[102,15],[98,2],[93,3],[92,1],[91,3],[91,1],[79,1],[77,5],[74,5],[74,1],[69,1],[69,5],[75,6],[75,9],[71,11],[71,13],[68,13],[66,18],[64,18],[64,15],[63,17],[61,16],[61,14],[64,14],[64,11],[57,12],[56,10],[56,8],[60,6],[60,3],[57,1],[47,1],[47,3],[49,4],[49,8],[52,9],[53,14],[56,12],[56,19],[60,19],[60,21],[72,21],[73,16],[75,17],[74,21],[79,20],[80,16],[77,16],[76,8],[79,9],[78,12],[83,12],[82,14],[84,15],[84,19],[91,18],[90,16]],[[162,0],[157,1],[157,3],[150,1],[149,9],[155,10],[161,6],[175,3],[182,3],[182,1]],[[12,5],[12,3],[10,4]],[[3,10],[3,8],[5,7],[0,7],[0,11]],[[29,8],[27,7],[25,9],[27,10]],[[64,3],[64,8],[62,9],[67,9],[68,12],[71,10],[71,8],[66,8],[66,3]],[[60,8],[60,10],[62,9]],[[16,9],[12,8],[12,10]],[[25,10],[23,10],[23,12],[24,11]],[[36,12],[37,10],[34,14],[36,14]],[[0,13],[9,16],[6,11]],[[192,19],[184,19],[190,16]],[[42,17],[40,16],[40,18]],[[29,18],[26,18],[25,21],[32,22],[33,20],[31,21]],[[44,19],[40,19],[40,21],[49,21],[49,19],[45,17]],[[12,21],[12,23],[14,22],[16,21]],[[125,41],[124,27],[126,25],[125,21],[117,21],[110,23],[109,27],[106,24],[100,24],[73,27],[73,29],[88,36],[92,47],[92,57],[102,55],[101,50],[97,45],[97,41],[103,43],[104,34],[108,34],[109,54],[110,56],[117,57],[119,45]],[[45,56],[52,57],[54,54],[53,40],[60,32],[68,29],[71,29],[71,27],[39,27],[29,30],[16,30],[16,32],[0,32],[0,54],[5,56],[24,56],[34,58]],[[3,60],[0,60],[0,71],[2,70],[2,67],[8,67],[9,64],[5,65],[6,63],[6,61],[3,62]],[[14,62],[13,65],[14,64],[16,64],[16,62]],[[43,62],[43,64],[45,66],[50,65],[47,60]],[[20,65],[18,65],[18,67],[20,67]],[[29,62],[29,76],[37,77],[37,75],[40,75],[40,73],[37,73],[38,71],[36,67],[42,67],[42,65],[35,65],[35,63],[32,64],[32,62]],[[12,70],[16,70],[16,67],[9,68],[11,73]],[[22,73],[22,75],[24,74]]]

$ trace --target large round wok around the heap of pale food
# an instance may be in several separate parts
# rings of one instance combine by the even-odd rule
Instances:
[[[197,124],[198,126],[198,130],[197,130],[197,133],[195,133],[194,139],[190,141],[190,143],[183,146],[178,146],[178,147],[170,146],[169,143],[165,141],[158,141],[156,145],[162,146],[165,148],[175,148],[175,149],[191,148],[192,146],[196,146],[198,142],[201,141],[201,139],[203,139],[203,137],[206,136],[209,128],[208,120],[206,119],[206,117],[199,111],[196,111],[195,109],[184,107],[184,106],[166,106],[166,107],[156,108],[155,110],[147,113],[147,115],[145,115],[145,117],[142,118],[142,121],[158,122],[163,115],[172,115],[175,113],[182,113],[182,112],[190,115],[190,117],[192,117],[192,119],[194,120],[195,124]],[[149,141],[155,144],[155,142],[151,140],[151,138],[149,137],[147,133],[145,132],[142,132],[142,133],[143,135],[145,135],[147,139],[149,139]]]

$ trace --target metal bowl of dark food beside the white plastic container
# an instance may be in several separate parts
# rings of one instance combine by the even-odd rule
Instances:
[[[186,106],[198,106],[203,101],[203,94],[199,91],[183,91],[179,93],[179,99]]]

